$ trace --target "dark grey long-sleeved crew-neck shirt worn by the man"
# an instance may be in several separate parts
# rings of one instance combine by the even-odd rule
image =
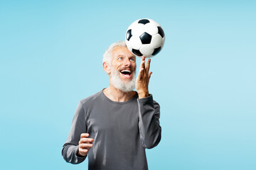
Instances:
[[[87,132],[94,139],[88,169],[148,169],[145,148],[161,140],[159,117],[159,103],[151,95],[117,102],[99,91],[78,103],[63,158],[72,164],[85,160],[78,156],[78,142]]]

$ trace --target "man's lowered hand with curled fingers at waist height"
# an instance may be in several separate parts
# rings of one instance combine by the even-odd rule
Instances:
[[[93,146],[92,142],[94,140],[92,138],[87,137],[89,137],[88,133],[82,133],[80,136],[78,155],[82,157],[85,157],[89,152],[90,148]]]

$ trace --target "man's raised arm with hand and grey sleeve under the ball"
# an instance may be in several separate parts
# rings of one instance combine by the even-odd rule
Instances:
[[[150,62],[149,59],[145,67],[145,57],[142,57],[139,75],[136,79],[136,89],[139,95],[139,132],[142,145],[148,149],[158,145],[161,140],[160,106],[149,94],[149,79],[152,74],[149,72]]]

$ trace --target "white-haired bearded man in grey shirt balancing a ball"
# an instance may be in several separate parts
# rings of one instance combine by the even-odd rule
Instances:
[[[66,162],[88,157],[88,169],[148,169],[145,148],[161,140],[160,107],[148,89],[150,61],[145,66],[142,58],[136,79],[136,57],[125,42],[110,45],[103,57],[110,86],[78,103],[63,145]]]

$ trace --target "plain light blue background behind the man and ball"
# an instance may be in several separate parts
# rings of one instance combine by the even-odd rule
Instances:
[[[102,54],[151,18],[166,34],[150,93],[149,169],[256,169],[255,1],[1,1],[1,169],[87,169],[61,149],[78,101],[108,86]],[[139,60],[137,60],[139,62]]]

